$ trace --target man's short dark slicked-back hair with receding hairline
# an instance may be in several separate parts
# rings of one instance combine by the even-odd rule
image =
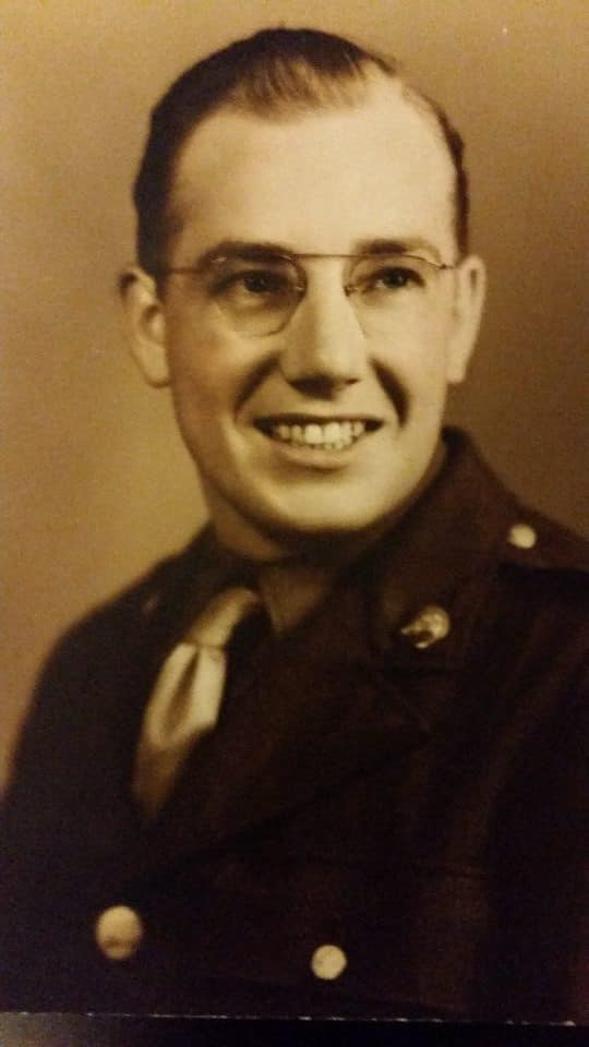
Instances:
[[[148,273],[161,266],[178,216],[168,206],[182,145],[196,124],[221,107],[268,118],[353,105],[375,69],[399,77],[398,65],[350,40],[316,29],[263,29],[196,62],[152,112],[149,135],[134,185],[137,258]],[[401,81],[407,97],[433,117],[456,172],[458,248],[468,242],[468,182],[464,145],[441,107]]]

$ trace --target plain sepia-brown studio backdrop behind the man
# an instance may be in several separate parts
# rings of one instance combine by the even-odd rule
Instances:
[[[397,56],[468,145],[490,268],[449,417],[509,485],[589,532],[586,0],[3,0],[1,770],[49,646],[203,519],[168,395],[128,359],[116,294],[148,109],[264,25]]]

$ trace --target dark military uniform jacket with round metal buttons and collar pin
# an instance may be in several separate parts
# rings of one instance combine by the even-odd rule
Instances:
[[[5,804],[2,1007],[588,1019],[586,551],[448,440],[318,609],[245,634],[157,822],[129,783],[206,538],[58,646]]]

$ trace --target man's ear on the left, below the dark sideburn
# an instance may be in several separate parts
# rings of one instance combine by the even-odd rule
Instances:
[[[133,265],[121,274],[119,290],[131,356],[149,385],[168,385],[166,317],[155,279]]]

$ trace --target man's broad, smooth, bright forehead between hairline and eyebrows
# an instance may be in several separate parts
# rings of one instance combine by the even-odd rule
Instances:
[[[224,239],[346,253],[383,237],[454,241],[454,167],[433,116],[396,83],[354,107],[261,119],[219,110],[179,157],[175,263]]]

